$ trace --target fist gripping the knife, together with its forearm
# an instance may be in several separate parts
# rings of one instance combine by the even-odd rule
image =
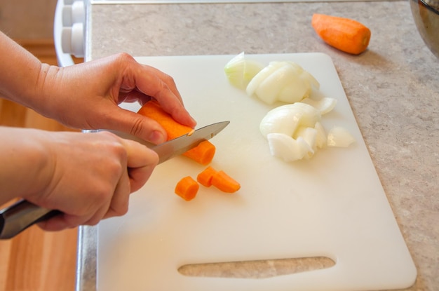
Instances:
[[[158,162],[151,149],[109,132],[0,127],[0,136],[0,192],[8,194],[0,198],[22,197],[60,210],[62,215],[40,224],[50,231],[124,215],[129,194],[142,187]]]

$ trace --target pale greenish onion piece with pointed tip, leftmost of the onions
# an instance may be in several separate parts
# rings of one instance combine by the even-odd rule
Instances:
[[[264,65],[254,60],[246,59],[243,52],[227,62],[224,67],[224,72],[233,86],[245,89],[250,80],[253,79],[262,68],[264,68]]]

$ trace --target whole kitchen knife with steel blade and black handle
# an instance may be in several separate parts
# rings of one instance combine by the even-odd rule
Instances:
[[[151,144],[128,133],[122,133],[116,130],[109,131],[124,139],[135,140],[146,145],[158,154],[158,163],[163,163],[170,158],[184,154],[186,151],[189,151],[189,149],[196,147],[200,142],[203,142],[203,140],[210,140],[210,138],[217,135],[217,133],[229,125],[229,123],[230,121],[213,123],[210,124],[210,126],[204,126],[191,133],[158,145]],[[60,213],[59,210],[41,208],[34,203],[22,199],[0,210],[0,239],[13,238],[29,226]]]

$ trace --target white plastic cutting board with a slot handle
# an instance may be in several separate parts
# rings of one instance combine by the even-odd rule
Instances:
[[[212,166],[241,182],[236,194],[201,187],[193,201],[174,194],[180,178],[205,167],[183,156],[158,165],[131,196],[124,217],[98,226],[98,290],[386,290],[409,287],[417,271],[381,187],[332,60],[322,53],[248,55],[292,60],[338,100],[323,126],[343,126],[347,148],[285,163],[269,154],[259,122],[271,107],[229,85],[231,55],[138,57],[173,76],[184,104],[205,126],[231,121],[212,139]],[[137,111],[137,105],[123,105]],[[360,110],[360,109],[359,109]],[[183,276],[184,264],[325,256],[327,269],[273,278]]]

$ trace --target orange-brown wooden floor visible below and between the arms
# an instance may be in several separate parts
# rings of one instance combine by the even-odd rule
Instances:
[[[41,61],[56,65],[53,41],[20,43]],[[69,130],[31,109],[1,98],[0,126]],[[11,240],[0,241],[0,291],[73,291],[76,243],[77,229],[44,232],[38,226],[30,227]]]

